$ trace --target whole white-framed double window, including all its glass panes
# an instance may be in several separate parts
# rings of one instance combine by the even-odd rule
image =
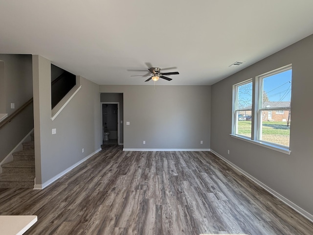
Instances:
[[[291,72],[289,65],[233,86],[233,135],[289,148]]]

